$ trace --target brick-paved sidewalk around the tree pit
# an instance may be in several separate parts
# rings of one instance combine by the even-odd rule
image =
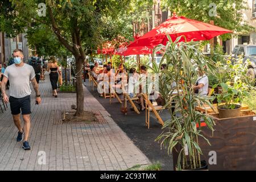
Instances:
[[[117,126],[108,111],[84,88],[84,109],[100,113],[101,123],[56,124],[61,110],[76,104],[75,93],[52,96],[48,75],[39,84],[42,104],[31,95],[30,151],[16,142],[16,129],[10,111],[0,113],[0,171],[2,170],[125,170],[137,164],[150,164],[147,157]],[[44,164],[44,156],[46,163]]]

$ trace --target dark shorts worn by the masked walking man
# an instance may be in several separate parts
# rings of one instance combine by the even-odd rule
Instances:
[[[23,98],[15,98],[10,96],[9,101],[11,106],[11,114],[19,114],[20,109],[22,110],[22,114],[31,114],[30,96]]]

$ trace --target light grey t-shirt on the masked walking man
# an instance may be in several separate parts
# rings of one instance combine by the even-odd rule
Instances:
[[[30,80],[35,77],[34,68],[31,65],[24,64],[23,67],[10,65],[3,73],[10,81],[10,96],[23,98],[31,94]]]

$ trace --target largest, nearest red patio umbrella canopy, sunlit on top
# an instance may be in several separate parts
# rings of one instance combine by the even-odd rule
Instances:
[[[172,41],[177,37],[184,35],[186,39],[181,38],[180,42],[190,42],[199,40],[210,40],[215,36],[230,33],[232,31],[212,24],[199,22],[197,20],[188,19],[184,16],[172,16],[166,22],[147,32],[139,39],[134,40],[128,47],[148,46],[155,47],[159,44],[168,42],[167,35],[171,36]]]

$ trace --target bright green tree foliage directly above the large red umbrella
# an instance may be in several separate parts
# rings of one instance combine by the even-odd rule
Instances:
[[[216,4],[216,16],[209,16],[209,12],[213,13],[213,8],[209,7],[210,3]],[[247,22],[242,20],[241,10],[247,9],[246,3],[242,0],[162,0],[161,5],[163,9],[168,8],[172,12],[175,11],[179,16],[207,23],[214,20],[214,24],[217,26],[234,32],[245,33],[254,30],[254,27],[248,26]],[[231,34],[224,34],[221,38],[223,40],[230,39]]]

